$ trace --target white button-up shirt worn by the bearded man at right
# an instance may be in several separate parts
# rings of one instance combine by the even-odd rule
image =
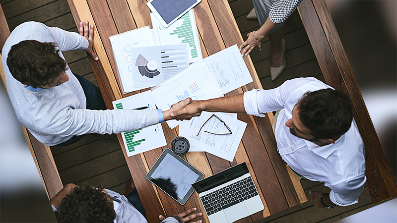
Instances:
[[[281,110],[275,127],[278,152],[297,173],[312,181],[324,182],[331,188],[331,201],[339,206],[358,202],[364,188],[364,144],[353,120],[350,129],[334,144],[318,146],[292,135],[285,122],[306,92],[331,88],[313,77],[295,78],[270,89],[254,89],[244,93],[248,114],[264,117],[266,112]]]

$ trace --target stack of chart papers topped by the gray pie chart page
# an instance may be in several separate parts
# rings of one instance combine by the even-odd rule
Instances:
[[[193,9],[164,28],[145,26],[109,37],[123,93],[152,87],[202,59]]]

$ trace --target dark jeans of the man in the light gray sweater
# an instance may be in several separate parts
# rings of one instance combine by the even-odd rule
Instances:
[[[83,88],[85,98],[87,99],[87,109],[89,110],[106,110],[105,102],[103,101],[101,91],[97,86],[91,83],[89,80],[84,77],[73,73],[73,75],[77,78],[81,87]],[[68,146],[73,143],[80,141],[84,135],[74,135],[66,142],[60,143],[57,146]]]

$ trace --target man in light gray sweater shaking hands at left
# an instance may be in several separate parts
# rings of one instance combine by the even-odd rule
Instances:
[[[80,22],[79,33],[25,22],[2,49],[8,96],[20,124],[46,145],[69,145],[87,133],[128,132],[171,119],[171,111],[106,110],[99,89],[72,73],[64,51],[92,50],[94,26]],[[95,102],[96,103],[92,103]],[[94,105],[90,105],[94,104]]]

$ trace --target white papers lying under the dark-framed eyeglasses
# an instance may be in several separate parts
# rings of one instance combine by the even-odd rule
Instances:
[[[227,128],[217,118],[211,117],[199,132],[202,124],[212,115],[212,112],[201,112],[199,117],[194,117],[189,121],[179,125],[179,136],[188,139],[191,148],[189,151],[207,152],[227,161],[233,162],[239,147],[241,138],[243,137],[247,123],[232,118],[222,113],[216,113],[231,129],[230,135],[214,135],[212,133],[226,133]],[[197,133],[199,132],[199,135]],[[192,147],[193,150],[192,150]]]

